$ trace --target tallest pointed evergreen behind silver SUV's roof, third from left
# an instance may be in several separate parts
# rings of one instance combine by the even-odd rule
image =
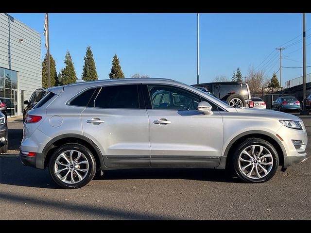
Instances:
[[[98,80],[95,61],[94,61],[93,53],[92,53],[90,46],[86,47],[86,55],[84,57],[82,80],[84,81]]]

